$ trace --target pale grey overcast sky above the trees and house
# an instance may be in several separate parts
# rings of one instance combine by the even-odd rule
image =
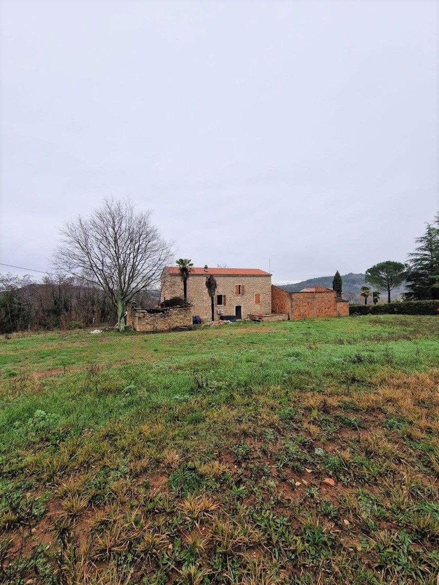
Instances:
[[[439,211],[438,2],[2,0],[0,33],[4,264],[106,195],[277,283],[405,261]]]

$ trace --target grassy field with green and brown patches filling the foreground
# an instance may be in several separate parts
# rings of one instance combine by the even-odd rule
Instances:
[[[0,582],[435,584],[439,318],[0,340]]]

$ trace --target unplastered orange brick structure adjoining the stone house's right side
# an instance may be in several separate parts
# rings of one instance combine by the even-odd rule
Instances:
[[[307,317],[338,317],[349,315],[349,301],[337,298],[332,288],[315,285],[300,292],[287,292],[272,286],[273,313],[287,313],[289,319]]]

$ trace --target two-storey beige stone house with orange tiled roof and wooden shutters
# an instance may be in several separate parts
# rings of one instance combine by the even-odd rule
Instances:
[[[272,312],[271,274],[253,268],[196,268],[187,279],[187,300],[192,305],[192,314],[199,315],[203,322],[211,321],[211,299],[205,281],[211,274],[217,281],[214,297],[214,317],[233,315],[246,319],[249,315],[269,315]],[[160,302],[172,297],[183,297],[183,283],[179,268],[167,266],[163,269]]]

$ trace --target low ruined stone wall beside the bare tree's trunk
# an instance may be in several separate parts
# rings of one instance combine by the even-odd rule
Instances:
[[[160,312],[148,312],[128,306],[126,325],[135,331],[154,332],[172,331],[179,327],[192,327],[192,311],[190,308],[172,307],[161,309]]]

